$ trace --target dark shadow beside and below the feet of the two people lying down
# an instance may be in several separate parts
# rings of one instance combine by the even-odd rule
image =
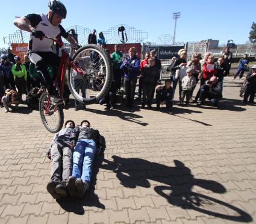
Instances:
[[[105,209],[105,205],[99,201],[99,197],[95,194],[95,185],[97,182],[97,174],[99,172],[99,167],[104,160],[104,153],[96,155],[95,161],[93,162],[93,171],[90,182],[90,188],[86,191],[84,198],[60,198],[57,199],[57,203],[60,205],[63,210],[72,212],[75,214],[83,215],[85,213],[84,207],[97,207]]]

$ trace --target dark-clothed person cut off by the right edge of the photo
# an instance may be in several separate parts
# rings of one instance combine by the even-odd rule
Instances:
[[[245,89],[245,96],[243,97],[243,102],[255,104],[254,97],[256,92],[256,65],[252,66],[252,69],[249,71],[249,73],[246,76],[247,84]]]

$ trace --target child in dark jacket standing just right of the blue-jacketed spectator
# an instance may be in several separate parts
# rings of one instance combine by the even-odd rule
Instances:
[[[142,77],[143,77],[142,107],[145,107],[147,102],[148,108],[151,108],[152,95],[154,96],[155,83],[160,79],[160,71],[157,67],[155,67],[155,58],[149,58],[148,63],[149,63],[149,67],[146,66],[142,68]]]

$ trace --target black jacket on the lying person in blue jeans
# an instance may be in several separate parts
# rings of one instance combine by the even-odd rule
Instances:
[[[71,132],[70,141],[80,140],[80,139],[91,139],[96,143],[97,148],[100,147],[101,135],[99,131],[94,128],[88,128],[86,126],[78,125]]]

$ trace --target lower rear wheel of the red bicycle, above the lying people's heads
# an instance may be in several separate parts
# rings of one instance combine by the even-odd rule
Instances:
[[[64,113],[62,105],[51,105],[52,110],[48,114],[45,113],[45,103],[48,102],[48,92],[41,95],[39,100],[40,117],[45,128],[51,133],[57,133],[63,126]],[[58,114],[56,114],[58,113]],[[54,120],[54,125],[51,125],[50,120]]]

